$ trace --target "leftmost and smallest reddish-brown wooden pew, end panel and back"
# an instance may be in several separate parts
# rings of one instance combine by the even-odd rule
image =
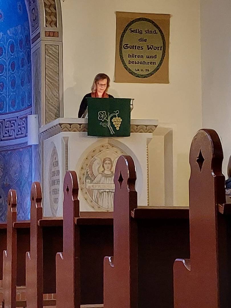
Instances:
[[[17,222],[16,191],[8,193],[7,249],[3,252],[3,297],[5,308],[25,306],[16,303],[16,286],[25,286],[25,254],[30,248],[30,222]]]

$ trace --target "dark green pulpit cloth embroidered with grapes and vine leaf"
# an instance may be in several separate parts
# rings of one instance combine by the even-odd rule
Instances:
[[[87,98],[88,136],[129,137],[131,99]]]

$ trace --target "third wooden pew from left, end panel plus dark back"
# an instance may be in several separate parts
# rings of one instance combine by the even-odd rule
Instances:
[[[63,191],[63,252],[56,255],[56,307],[103,307],[103,257],[113,253],[112,213],[79,212],[74,171],[66,173]]]

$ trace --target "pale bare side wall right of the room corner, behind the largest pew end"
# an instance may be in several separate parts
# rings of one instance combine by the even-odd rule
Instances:
[[[231,154],[231,2],[201,1],[201,68],[203,127],[221,137],[226,175]]]

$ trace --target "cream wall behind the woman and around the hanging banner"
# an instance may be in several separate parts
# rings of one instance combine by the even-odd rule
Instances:
[[[111,83],[115,97],[134,97],[132,118],[173,123],[174,205],[188,205],[188,152],[201,128],[199,0],[67,0],[62,3],[64,116],[77,116],[94,76],[115,64],[115,11],[171,14],[169,84]],[[149,158],[155,177],[155,157]],[[154,197],[154,196],[153,196]],[[150,200],[152,204],[152,200]],[[154,202],[153,202],[154,204]]]

